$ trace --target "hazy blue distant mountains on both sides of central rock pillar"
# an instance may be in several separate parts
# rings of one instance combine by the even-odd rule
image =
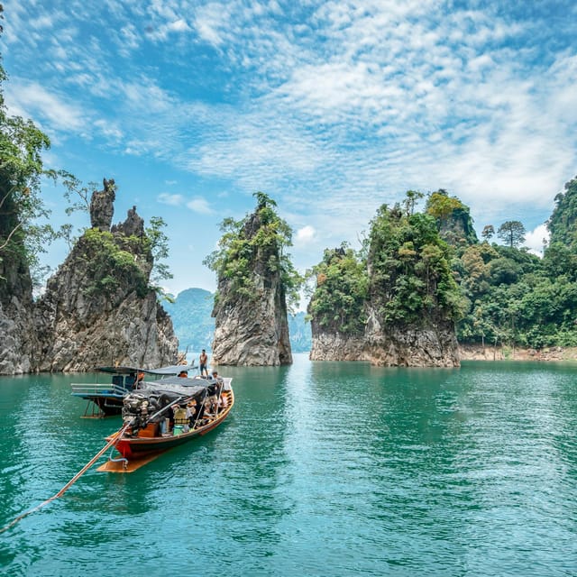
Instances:
[[[215,336],[215,319],[210,316],[214,297],[205,289],[186,289],[174,303],[162,304],[172,319],[180,351],[188,348],[190,353],[199,353],[202,349],[210,352]],[[305,322],[305,313],[289,315],[289,336],[293,353],[310,351],[310,323]]]

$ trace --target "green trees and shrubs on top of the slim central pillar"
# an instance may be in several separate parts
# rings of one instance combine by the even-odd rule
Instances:
[[[263,192],[254,193],[257,206],[243,220],[225,218],[218,249],[203,263],[215,270],[219,282],[228,281],[229,296],[258,298],[255,274],[267,278],[279,274],[289,306],[298,303],[302,279],[285,249],[292,245],[292,230],[275,212],[276,202]],[[221,295],[217,294],[216,298]]]

